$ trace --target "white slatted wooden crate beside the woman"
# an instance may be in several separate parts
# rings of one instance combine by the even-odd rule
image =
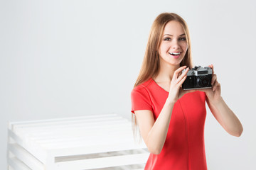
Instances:
[[[117,114],[10,122],[9,169],[143,169],[149,152]]]

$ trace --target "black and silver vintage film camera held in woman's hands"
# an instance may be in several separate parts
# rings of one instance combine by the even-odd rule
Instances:
[[[183,69],[182,72],[185,72]],[[182,84],[182,89],[207,89],[211,88],[213,70],[210,67],[196,66],[188,70],[186,80]]]

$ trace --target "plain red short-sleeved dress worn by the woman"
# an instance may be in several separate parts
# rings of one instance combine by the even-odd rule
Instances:
[[[149,110],[158,118],[169,92],[153,79],[132,90],[132,113]],[[204,124],[206,94],[195,91],[182,96],[174,104],[166,142],[160,154],[150,154],[145,169],[206,170]]]

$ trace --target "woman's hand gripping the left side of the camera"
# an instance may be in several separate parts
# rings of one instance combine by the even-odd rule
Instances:
[[[182,74],[179,75],[179,73],[183,69],[186,69],[185,72],[183,72]],[[186,90],[186,91],[184,91],[183,89],[181,89],[181,85],[183,84],[183,82],[185,81],[185,79],[187,77],[186,74],[188,73],[188,70],[189,70],[189,68],[186,68],[186,66],[183,66],[183,67],[179,67],[174,72],[174,75],[171,79],[169,96],[167,98],[167,100],[169,100],[170,102],[176,103],[176,101],[178,101],[178,98],[181,98],[184,94],[196,91],[196,90]]]

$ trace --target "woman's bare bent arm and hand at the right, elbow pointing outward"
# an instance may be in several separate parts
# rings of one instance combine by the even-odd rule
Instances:
[[[213,69],[213,64],[210,65]],[[213,72],[214,73],[214,72]],[[242,124],[238,117],[231,111],[223,98],[220,96],[220,84],[217,81],[216,74],[213,74],[212,82],[213,88],[203,89],[206,92],[206,102],[210,108],[211,113],[220,125],[230,134],[240,137],[242,134]]]

